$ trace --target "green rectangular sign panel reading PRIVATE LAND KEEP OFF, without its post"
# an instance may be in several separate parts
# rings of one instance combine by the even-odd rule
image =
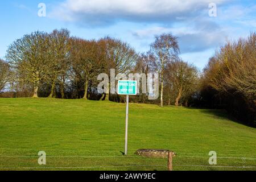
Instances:
[[[119,80],[117,93],[119,95],[137,95],[137,81]]]

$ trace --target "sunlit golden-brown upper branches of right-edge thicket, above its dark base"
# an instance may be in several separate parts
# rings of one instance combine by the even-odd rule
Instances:
[[[256,34],[228,42],[209,61],[205,78],[214,89],[256,99]]]

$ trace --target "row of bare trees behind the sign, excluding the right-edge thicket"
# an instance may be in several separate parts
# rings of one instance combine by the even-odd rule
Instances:
[[[84,40],[71,37],[65,29],[51,34],[36,31],[12,43],[6,60],[2,62],[9,74],[4,85],[8,83],[9,95],[16,97],[29,96],[33,90],[32,97],[120,101],[116,95],[109,98],[108,92],[97,93],[97,76],[108,73],[110,77],[110,69],[115,69],[115,74],[159,73],[160,105],[180,105],[188,102],[199,78],[193,65],[179,59],[179,45],[172,34],[156,36],[150,51],[139,54],[118,39]],[[146,96],[133,100],[149,102]]]

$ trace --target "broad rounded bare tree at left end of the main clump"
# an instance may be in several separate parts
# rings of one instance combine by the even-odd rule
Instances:
[[[38,88],[42,80],[47,80],[51,61],[47,57],[48,34],[33,32],[16,40],[7,49],[6,58],[19,75],[19,81],[34,85],[33,97],[38,97]]]

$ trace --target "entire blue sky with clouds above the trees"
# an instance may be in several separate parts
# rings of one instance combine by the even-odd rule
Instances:
[[[39,3],[46,17],[38,16]],[[209,16],[209,3],[217,16]],[[246,37],[256,30],[256,2],[231,0],[41,0],[0,3],[0,57],[24,34],[68,28],[72,36],[99,39],[112,36],[146,52],[154,36],[172,32],[178,37],[183,60],[200,69],[226,40]]]

